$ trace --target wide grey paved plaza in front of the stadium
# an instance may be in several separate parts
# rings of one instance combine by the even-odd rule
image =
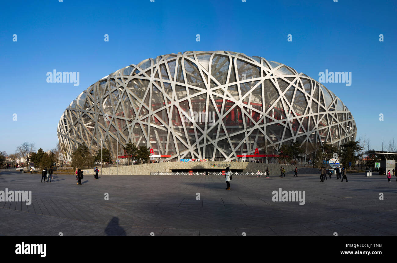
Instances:
[[[0,191],[32,191],[32,203],[0,202],[0,235],[396,235],[396,177],[347,176],[235,176],[226,191],[222,176],[85,175],[76,185],[74,175],[40,183],[1,170]],[[305,191],[305,204],[273,202],[279,188]]]

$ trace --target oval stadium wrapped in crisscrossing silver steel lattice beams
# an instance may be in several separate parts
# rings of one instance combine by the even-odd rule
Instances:
[[[353,116],[322,84],[291,67],[229,51],[187,51],[120,69],[67,107],[58,138],[112,155],[131,140],[171,158],[233,160],[282,144],[306,152],[355,140]]]

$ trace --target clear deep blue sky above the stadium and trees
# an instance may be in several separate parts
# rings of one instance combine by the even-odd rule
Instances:
[[[91,84],[189,50],[257,55],[316,80],[326,69],[352,72],[351,86],[324,85],[352,112],[358,136],[380,150],[397,128],[396,9],[384,0],[8,1],[0,10],[0,151],[24,141],[54,148],[60,116]],[[54,69],[80,72],[80,85],[47,83]]]

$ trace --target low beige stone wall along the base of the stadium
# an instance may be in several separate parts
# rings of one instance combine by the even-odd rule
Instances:
[[[270,175],[280,174],[280,164],[261,164],[256,162],[159,162],[155,164],[136,164],[129,166],[119,166],[103,168],[102,174],[119,174],[119,175],[150,175],[150,172],[172,172],[172,170],[206,170],[219,169],[222,171],[227,166],[231,170],[242,170],[243,172],[264,172],[266,167],[269,169]],[[295,166],[283,165],[286,174],[293,174]],[[101,168],[98,167],[99,174]],[[94,174],[94,169],[83,170],[85,174]],[[298,167],[298,174],[316,174],[319,173],[317,168]]]

